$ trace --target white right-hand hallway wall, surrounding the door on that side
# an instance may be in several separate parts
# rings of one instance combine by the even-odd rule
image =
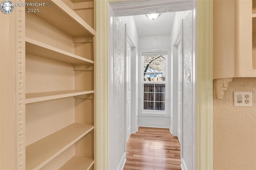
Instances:
[[[176,12],[174,17],[174,24],[171,34],[171,51],[173,51],[173,45],[176,41],[177,35],[181,28],[181,22],[183,19],[183,121],[182,121],[182,165],[185,169],[192,169],[192,83],[188,83],[188,73],[192,75],[192,11]],[[174,114],[177,113],[175,105],[177,105],[176,95],[176,75],[177,68],[175,67],[177,59],[171,53],[171,63],[174,67],[172,70],[171,78],[171,129],[175,129],[177,126]],[[176,132],[172,132],[176,134]]]

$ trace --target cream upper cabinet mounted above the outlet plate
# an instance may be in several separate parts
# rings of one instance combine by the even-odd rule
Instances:
[[[256,77],[252,1],[214,0],[214,79]]]

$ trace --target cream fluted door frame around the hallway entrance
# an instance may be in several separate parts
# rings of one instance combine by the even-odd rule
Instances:
[[[212,73],[213,1],[196,0],[96,0],[96,158],[97,169],[109,167],[109,36],[112,30],[109,9],[132,10],[138,6],[193,2],[193,169],[213,169]],[[111,6],[110,6],[111,3]],[[115,5],[113,5],[115,3]],[[106,15],[106,14],[109,14]],[[113,24],[113,23],[112,23]],[[108,28],[108,29],[106,29]],[[207,48],[206,48],[207,47]],[[204,72],[204,73],[202,73]]]

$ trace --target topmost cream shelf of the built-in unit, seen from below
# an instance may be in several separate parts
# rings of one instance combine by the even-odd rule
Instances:
[[[38,2],[27,0],[26,2]],[[74,37],[95,36],[96,31],[61,0],[46,0],[45,6],[37,7],[40,12],[34,15]],[[47,7],[46,4],[50,3]],[[26,7],[27,10],[27,7]]]

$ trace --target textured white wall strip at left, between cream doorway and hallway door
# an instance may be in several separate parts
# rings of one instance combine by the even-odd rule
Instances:
[[[125,17],[114,17],[114,112],[110,113],[110,170],[125,152]]]

